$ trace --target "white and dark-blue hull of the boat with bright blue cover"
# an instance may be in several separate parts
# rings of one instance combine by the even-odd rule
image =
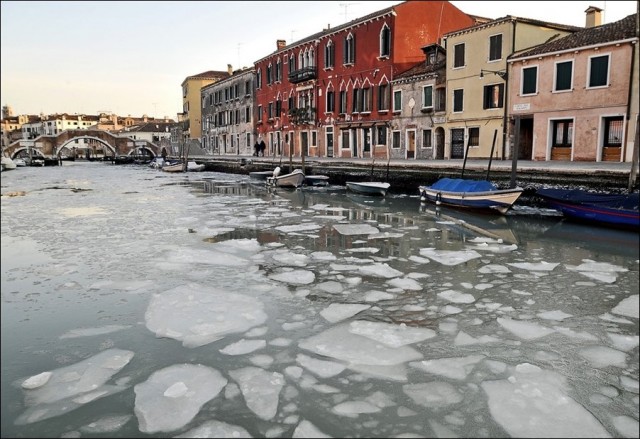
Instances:
[[[481,192],[451,192],[431,186],[420,186],[420,201],[476,210],[495,210],[506,213],[522,195],[522,188],[497,189]]]

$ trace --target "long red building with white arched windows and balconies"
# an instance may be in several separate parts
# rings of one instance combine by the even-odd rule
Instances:
[[[324,29],[256,61],[255,126],[265,155],[387,157],[390,82],[422,47],[475,18],[447,1],[406,1]]]

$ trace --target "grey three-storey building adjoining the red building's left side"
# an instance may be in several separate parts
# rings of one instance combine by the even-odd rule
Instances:
[[[234,71],[201,91],[202,148],[208,154],[253,153],[255,70]]]

